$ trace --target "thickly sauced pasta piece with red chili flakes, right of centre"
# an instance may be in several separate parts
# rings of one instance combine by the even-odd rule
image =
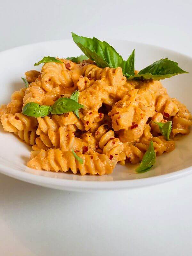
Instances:
[[[117,101],[108,113],[112,119],[114,131],[119,131],[119,139],[123,142],[137,141],[143,133],[149,117],[155,113],[155,107],[141,97],[138,100],[139,89],[132,89]]]

